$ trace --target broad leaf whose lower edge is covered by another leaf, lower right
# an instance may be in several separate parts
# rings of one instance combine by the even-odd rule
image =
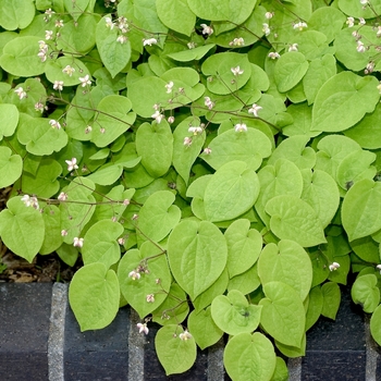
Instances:
[[[312,265],[305,249],[296,242],[282,239],[278,246],[265,246],[258,260],[262,285],[280,281],[291,285],[305,300],[312,282]]]

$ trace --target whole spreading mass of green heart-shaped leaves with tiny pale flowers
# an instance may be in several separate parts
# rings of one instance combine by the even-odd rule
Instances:
[[[349,271],[381,344],[380,13],[1,1],[1,239],[81,256],[81,329],[131,305],[167,374],[228,334],[233,380],[286,380]]]

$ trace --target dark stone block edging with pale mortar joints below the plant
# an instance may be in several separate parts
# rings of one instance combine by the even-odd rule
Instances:
[[[165,377],[155,356],[157,324],[138,333],[139,318],[122,308],[105,330],[81,332],[67,304],[67,285],[0,284],[1,381],[222,381],[223,343],[199,351],[184,374]],[[369,317],[343,294],[336,322],[321,320],[307,334],[303,358],[287,362],[290,381],[381,379],[381,351]],[[249,380],[248,380],[249,381]]]

